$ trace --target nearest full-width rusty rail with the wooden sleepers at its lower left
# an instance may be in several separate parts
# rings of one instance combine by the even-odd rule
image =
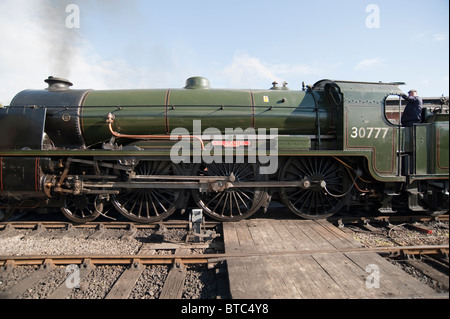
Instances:
[[[191,246],[191,249],[204,248],[206,245],[198,244]],[[167,247],[166,247],[167,248]],[[52,286],[41,298],[59,299],[74,296],[74,291],[79,291],[83,287],[89,286],[89,282],[98,279],[88,279],[95,269],[115,269],[115,279],[110,281],[109,286],[103,296],[104,299],[126,299],[138,284],[147,269],[154,267],[164,267],[165,276],[161,278],[159,289],[153,297],[158,299],[179,299],[182,297],[187,280],[188,271],[191,266],[202,265],[204,270],[210,270],[210,276],[215,277],[210,281],[215,281],[215,297],[227,297],[226,276],[224,275],[222,261],[230,258],[261,257],[261,256],[293,256],[301,254],[329,254],[339,252],[378,252],[390,256],[411,256],[411,255],[446,255],[448,256],[448,246],[410,246],[410,247],[377,247],[377,248],[354,248],[340,250],[315,250],[315,251],[287,251],[278,253],[217,253],[217,254],[188,254],[187,248],[177,248],[172,255],[120,255],[120,256],[0,256],[0,266],[3,271],[2,278],[7,278],[8,273],[12,273],[18,267],[32,267],[34,271],[29,276],[19,280],[11,289],[0,293],[2,299],[26,298],[39,287]],[[222,265],[222,267],[221,267]],[[65,280],[61,273],[66,272]],[[52,275],[57,272],[58,275]],[[55,279],[58,277],[59,279]],[[47,278],[47,279],[45,279]],[[447,277],[448,278],[448,277]],[[102,278],[102,281],[105,279]],[[87,289],[87,288],[85,288]],[[222,293],[217,293],[222,291]]]

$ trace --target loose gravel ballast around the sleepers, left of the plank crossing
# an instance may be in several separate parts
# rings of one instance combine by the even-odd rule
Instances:
[[[97,230],[76,228],[46,229],[41,232],[30,229],[16,229],[2,235],[0,232],[0,255],[136,255],[148,243],[184,244],[186,229],[139,229],[131,237],[123,239],[126,229],[105,229],[100,236]],[[201,253],[194,249],[191,253]],[[172,250],[156,251],[155,254],[173,254]],[[68,299],[103,299],[114,283],[129,266],[97,266],[78,287],[72,289]],[[129,299],[158,299],[170,271],[170,265],[143,266],[141,276],[132,289]],[[0,271],[0,296],[22,279],[38,271],[38,266],[20,266]],[[60,285],[64,285],[71,272],[66,266],[48,269],[45,276],[18,296],[19,299],[48,298]],[[187,267],[183,299],[215,298],[214,270],[206,266]]]

